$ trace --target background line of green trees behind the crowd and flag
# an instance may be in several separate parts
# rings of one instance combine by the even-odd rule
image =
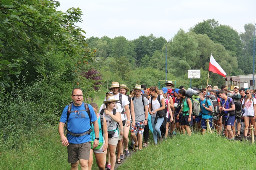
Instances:
[[[210,55],[227,73],[227,76],[252,74],[253,24],[245,24],[245,32],[221,25],[214,19],[199,22],[183,29],[167,44],[163,37],[140,36],[134,40],[125,37],[87,38],[91,48],[97,48],[97,63],[106,82],[120,81],[133,87],[136,83],[157,85],[165,80],[165,45],[167,44],[167,79],[176,80],[177,86],[188,84],[188,69],[200,69],[201,79],[193,79],[192,85],[205,87]],[[224,79],[210,73],[209,83],[221,85]],[[164,85],[162,82],[161,85]]]

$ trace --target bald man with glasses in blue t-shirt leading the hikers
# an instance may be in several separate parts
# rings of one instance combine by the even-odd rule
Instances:
[[[73,100],[71,112],[68,117],[68,106],[66,106],[60,117],[58,131],[62,144],[68,147],[68,162],[71,164],[71,169],[78,169],[80,163],[81,169],[87,169],[88,160],[91,150],[90,138],[90,122],[94,125],[95,140],[93,143],[94,148],[99,144],[99,125],[94,110],[88,104],[91,120],[87,114],[86,108],[83,103],[83,91],[75,88],[72,91],[71,98]],[[68,117],[67,123],[67,137],[64,135],[64,125]]]

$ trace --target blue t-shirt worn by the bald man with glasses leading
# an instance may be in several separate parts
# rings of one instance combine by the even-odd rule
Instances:
[[[88,107],[91,113],[90,114],[91,122],[94,122],[97,120],[97,117],[94,113],[92,106],[88,104]],[[85,133],[91,128],[91,126],[90,126],[89,115],[87,114],[86,111],[81,111],[81,110],[85,110],[84,103],[82,103],[81,106],[75,106],[74,104],[72,104],[71,111],[75,111],[75,110],[79,112],[70,113],[68,118],[68,131],[75,134]],[[68,105],[64,108],[62,112],[62,116],[60,117],[60,122],[66,123],[67,116],[68,116],[67,112],[68,112]],[[91,141],[89,134],[84,136],[78,136],[78,137],[67,134],[67,139],[69,143],[73,143],[73,144],[81,144],[81,143],[86,143]]]

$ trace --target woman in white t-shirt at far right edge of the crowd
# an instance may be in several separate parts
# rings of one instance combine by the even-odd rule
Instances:
[[[242,119],[245,120],[245,138],[247,136],[249,123],[255,128],[255,119],[256,119],[256,99],[251,95],[251,90],[246,90],[246,98],[243,99],[242,106],[245,109],[245,113],[242,116]],[[255,132],[254,132],[255,134]]]

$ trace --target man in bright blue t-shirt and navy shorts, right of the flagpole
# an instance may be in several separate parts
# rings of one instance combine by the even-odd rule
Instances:
[[[207,123],[206,123],[207,119],[209,119],[209,124],[211,129],[214,129],[213,117],[211,115],[212,105],[209,99],[204,98],[204,93],[200,92],[199,96],[201,99],[200,106],[201,106],[201,113],[202,113],[201,128],[204,134],[206,133],[206,129],[207,129]]]

